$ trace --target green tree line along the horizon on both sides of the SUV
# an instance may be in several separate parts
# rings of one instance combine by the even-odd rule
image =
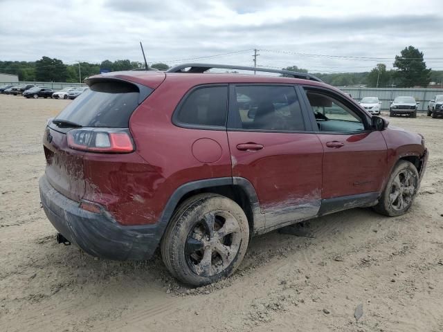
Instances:
[[[386,64],[377,64],[371,71],[363,73],[312,74],[334,86],[364,84],[369,87],[378,86],[381,88],[388,86],[413,87],[428,86],[429,82],[440,83],[443,80],[443,71],[433,71],[431,68],[427,68],[424,54],[413,46],[401,50],[400,55],[395,57],[393,66],[393,69],[387,70]],[[150,67],[159,70],[169,68],[167,64],[163,63],[150,64]],[[129,71],[143,69],[145,65],[129,59],[114,62],[105,60],[100,64],[89,62],[64,64],[60,59],[46,56],[35,62],[0,61],[0,73],[19,75],[19,80],[25,82],[82,82],[86,77],[100,73],[100,68],[108,71]],[[298,66],[282,69],[308,73],[307,69],[298,68]]]

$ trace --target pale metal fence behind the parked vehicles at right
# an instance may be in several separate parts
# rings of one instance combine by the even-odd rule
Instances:
[[[381,101],[381,109],[389,109],[390,102],[400,95],[410,95],[417,102],[419,111],[428,109],[428,102],[435,98],[435,95],[443,95],[443,89],[423,89],[423,88],[349,88],[339,87],[343,92],[350,93],[354,100],[360,101],[365,97],[378,97]]]

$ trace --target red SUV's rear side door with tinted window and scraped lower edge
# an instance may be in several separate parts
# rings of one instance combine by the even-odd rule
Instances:
[[[323,147],[300,105],[296,86],[230,86],[232,174],[253,185],[268,230],[320,208]]]

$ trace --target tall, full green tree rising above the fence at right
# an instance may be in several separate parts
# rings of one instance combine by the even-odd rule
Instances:
[[[395,56],[394,67],[397,68],[398,86],[428,86],[431,82],[431,69],[426,68],[423,53],[414,46],[404,48],[401,55]]]

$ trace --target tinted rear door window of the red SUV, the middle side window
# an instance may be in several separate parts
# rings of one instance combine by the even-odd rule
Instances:
[[[293,86],[236,86],[233,129],[304,131]]]

